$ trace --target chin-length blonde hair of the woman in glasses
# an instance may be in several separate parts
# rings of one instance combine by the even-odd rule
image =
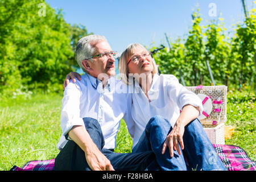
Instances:
[[[122,54],[119,58],[119,74],[120,74],[121,80],[127,85],[132,84],[131,80],[129,82],[129,73],[128,73],[127,60],[130,58],[131,55],[133,55],[133,50],[137,47],[141,47],[143,49],[146,49],[146,48],[144,48],[144,46],[142,46],[139,43],[133,43],[133,44],[130,44],[125,49],[125,51],[122,52]],[[152,64],[153,64],[152,73],[153,73],[153,75],[155,75],[156,73],[158,73],[158,68],[156,67],[154,61],[152,61]]]

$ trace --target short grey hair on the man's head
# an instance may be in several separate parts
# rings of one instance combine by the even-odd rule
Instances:
[[[94,47],[95,43],[100,41],[107,42],[105,36],[102,36],[102,35],[84,36],[79,40],[79,42],[77,42],[76,61],[84,72],[86,72],[86,69],[82,65],[82,61],[93,55],[93,53],[95,52],[95,47]],[[92,59],[89,59],[89,60],[93,62]]]

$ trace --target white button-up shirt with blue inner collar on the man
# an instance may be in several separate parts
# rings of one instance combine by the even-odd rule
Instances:
[[[82,118],[96,119],[101,126],[106,149],[114,149],[116,137],[123,118],[129,132],[133,133],[134,123],[131,118],[131,94],[118,92],[126,89],[121,81],[111,77],[104,87],[102,82],[89,74],[82,75],[81,81],[70,81],[64,91],[61,109],[62,135],[57,144],[61,150],[68,142],[65,135],[75,125],[84,126]],[[70,139],[70,138],[69,138]]]

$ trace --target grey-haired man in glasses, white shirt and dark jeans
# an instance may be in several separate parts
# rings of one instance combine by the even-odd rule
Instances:
[[[113,93],[115,52],[106,38],[80,39],[76,59],[86,72],[65,88],[55,170],[145,170],[157,168],[153,152],[114,152],[120,120],[132,126],[131,95]],[[120,84],[118,84],[120,85]],[[124,86],[124,85],[123,85]],[[129,128],[130,129],[130,128]],[[154,167],[154,168],[151,168]]]

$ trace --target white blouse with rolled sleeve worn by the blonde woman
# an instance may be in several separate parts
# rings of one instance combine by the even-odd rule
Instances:
[[[151,89],[148,91],[151,102],[148,101],[137,81],[134,83],[134,89],[131,108],[131,115],[135,122],[134,133],[131,133],[133,147],[137,144],[150,118],[155,115],[168,119],[174,127],[183,106],[190,104],[199,107],[200,114],[203,111],[200,98],[181,85],[174,75],[154,75]]]

